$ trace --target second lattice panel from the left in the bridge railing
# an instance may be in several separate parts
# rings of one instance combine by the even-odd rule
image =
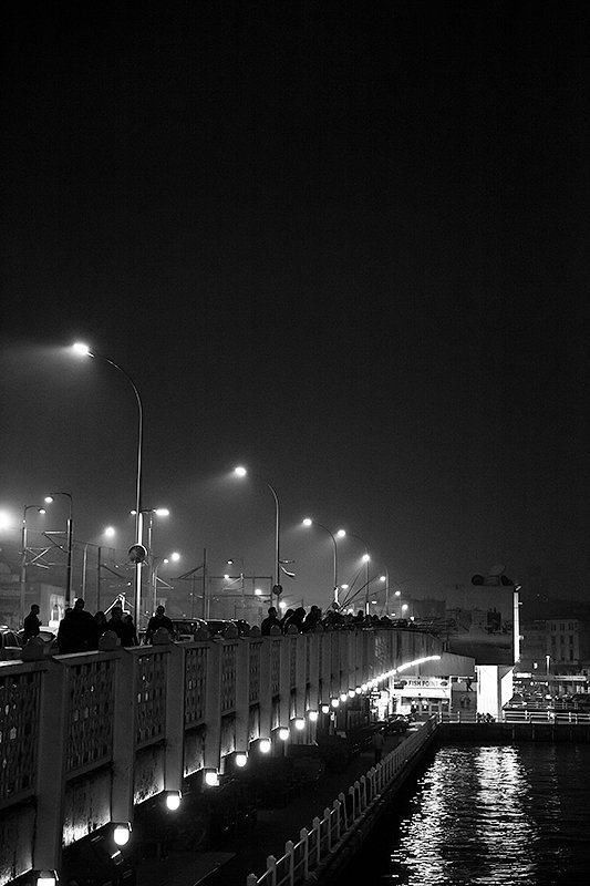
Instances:
[[[115,667],[112,659],[69,666],[65,772],[108,760],[113,751]]]

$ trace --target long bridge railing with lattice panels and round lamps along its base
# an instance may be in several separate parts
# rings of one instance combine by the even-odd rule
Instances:
[[[59,869],[63,846],[133,822],[138,804],[199,771],[222,772],[262,739],[282,745],[281,728],[288,741],[311,743],[309,714],[322,703],[441,651],[429,635],[400,633],[251,636],[0,662],[0,886],[31,868]]]

